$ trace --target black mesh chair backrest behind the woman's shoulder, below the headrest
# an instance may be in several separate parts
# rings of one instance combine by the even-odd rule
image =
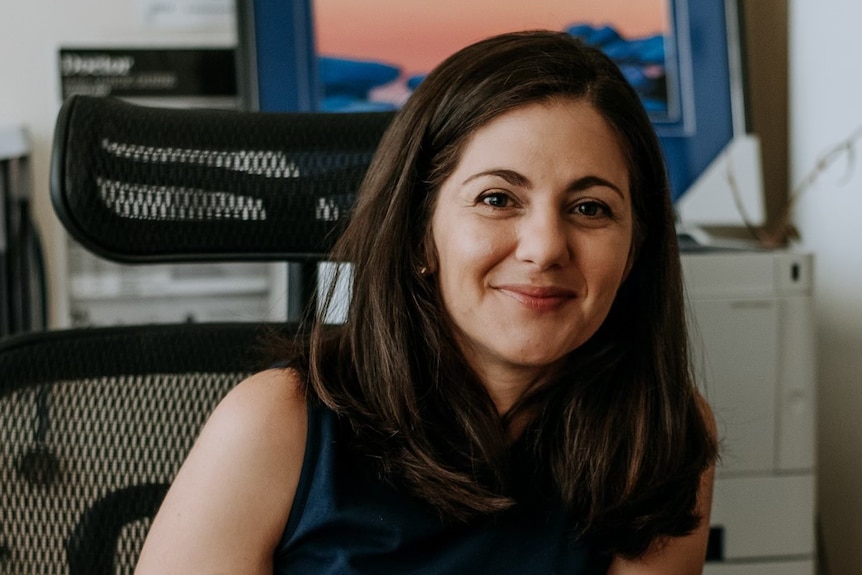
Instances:
[[[0,343],[0,573],[132,573],[167,486],[215,404],[259,368],[266,333],[188,324]]]

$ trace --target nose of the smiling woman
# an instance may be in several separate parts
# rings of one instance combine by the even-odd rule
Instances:
[[[516,257],[540,269],[563,265],[571,251],[563,217],[556,210],[536,210],[520,221]]]

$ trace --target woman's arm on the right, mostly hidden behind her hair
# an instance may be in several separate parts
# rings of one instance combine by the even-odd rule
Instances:
[[[718,436],[715,418],[706,401],[700,398],[701,412],[713,437]],[[707,469],[697,492],[697,513],[701,517],[697,529],[685,537],[657,541],[643,557],[611,563],[608,575],[700,575],[706,558],[709,538],[709,513],[712,508],[712,486],[715,465]]]

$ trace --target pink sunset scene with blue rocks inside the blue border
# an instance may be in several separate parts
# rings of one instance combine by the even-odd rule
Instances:
[[[651,113],[670,113],[670,0],[314,0],[325,110],[397,108],[446,56],[514,30],[568,31],[605,50]]]

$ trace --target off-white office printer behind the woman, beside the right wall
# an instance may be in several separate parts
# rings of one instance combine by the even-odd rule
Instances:
[[[721,436],[707,575],[815,573],[812,257],[684,252],[695,374]]]

